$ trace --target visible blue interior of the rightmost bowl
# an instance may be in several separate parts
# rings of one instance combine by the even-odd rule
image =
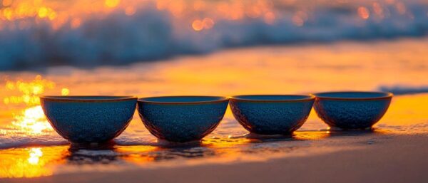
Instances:
[[[384,98],[391,95],[391,93],[382,92],[327,92],[327,93],[316,93],[315,96],[319,98]]]

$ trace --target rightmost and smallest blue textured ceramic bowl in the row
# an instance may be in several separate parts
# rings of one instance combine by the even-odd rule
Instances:
[[[315,111],[330,127],[366,129],[387,112],[392,93],[329,92],[315,94]]]

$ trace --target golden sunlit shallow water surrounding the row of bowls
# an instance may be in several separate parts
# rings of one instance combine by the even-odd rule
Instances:
[[[312,110],[292,137],[248,135],[226,112],[200,143],[157,142],[138,115],[114,142],[69,145],[44,118],[38,95],[239,95],[325,90],[424,88],[428,40],[342,42],[243,48],[169,61],[44,73],[3,72],[0,177],[266,161],[377,145],[397,135],[428,133],[428,94],[396,95],[374,130],[327,130]],[[36,76],[38,75],[39,76]],[[423,90],[422,90],[423,91]],[[112,168],[113,167],[113,168]]]

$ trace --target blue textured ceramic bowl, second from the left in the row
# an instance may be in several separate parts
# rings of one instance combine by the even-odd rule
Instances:
[[[228,98],[168,96],[138,99],[138,113],[151,134],[170,142],[201,140],[225,115]]]

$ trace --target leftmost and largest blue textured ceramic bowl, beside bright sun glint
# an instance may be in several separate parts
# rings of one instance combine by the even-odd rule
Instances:
[[[43,96],[52,127],[72,143],[98,143],[121,135],[136,110],[132,96]]]

